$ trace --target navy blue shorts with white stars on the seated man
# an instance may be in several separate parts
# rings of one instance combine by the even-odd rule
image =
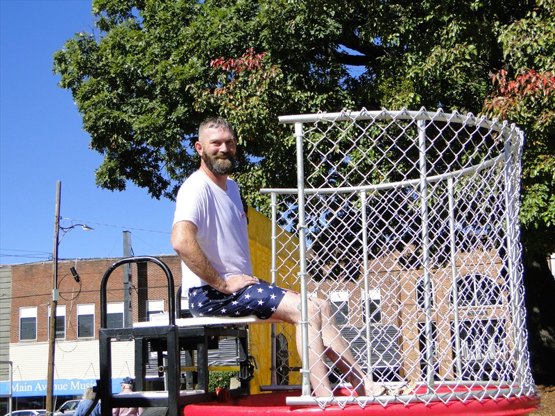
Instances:
[[[189,288],[189,311],[193,316],[248,316],[268,319],[278,308],[286,289],[261,280],[237,293],[226,295],[212,286]]]

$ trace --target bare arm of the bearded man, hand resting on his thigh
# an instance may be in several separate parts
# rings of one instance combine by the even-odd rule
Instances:
[[[200,245],[198,245],[196,241],[197,232],[196,225],[189,221],[180,221],[174,224],[171,229],[173,250],[176,250],[176,253],[191,272],[210,284],[216,291],[228,294],[235,293],[258,281],[256,277],[248,275],[232,275],[226,280],[222,279],[206,258]]]

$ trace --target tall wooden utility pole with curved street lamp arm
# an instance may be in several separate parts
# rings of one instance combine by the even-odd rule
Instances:
[[[70,227],[60,227],[60,193],[62,182],[56,183],[56,217],[54,219],[54,248],[52,251],[52,303],[50,305],[48,378],[46,381],[46,413],[54,413],[54,354],[56,353],[56,307],[58,306],[58,245],[69,230],[82,227],[86,231],[93,231],[86,224],[73,224]],[[60,237],[60,229],[62,236]]]

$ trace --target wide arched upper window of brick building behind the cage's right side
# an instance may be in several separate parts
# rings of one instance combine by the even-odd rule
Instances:
[[[499,285],[488,276],[466,275],[456,281],[459,306],[495,305],[501,303]],[[453,303],[453,294],[451,294]]]

